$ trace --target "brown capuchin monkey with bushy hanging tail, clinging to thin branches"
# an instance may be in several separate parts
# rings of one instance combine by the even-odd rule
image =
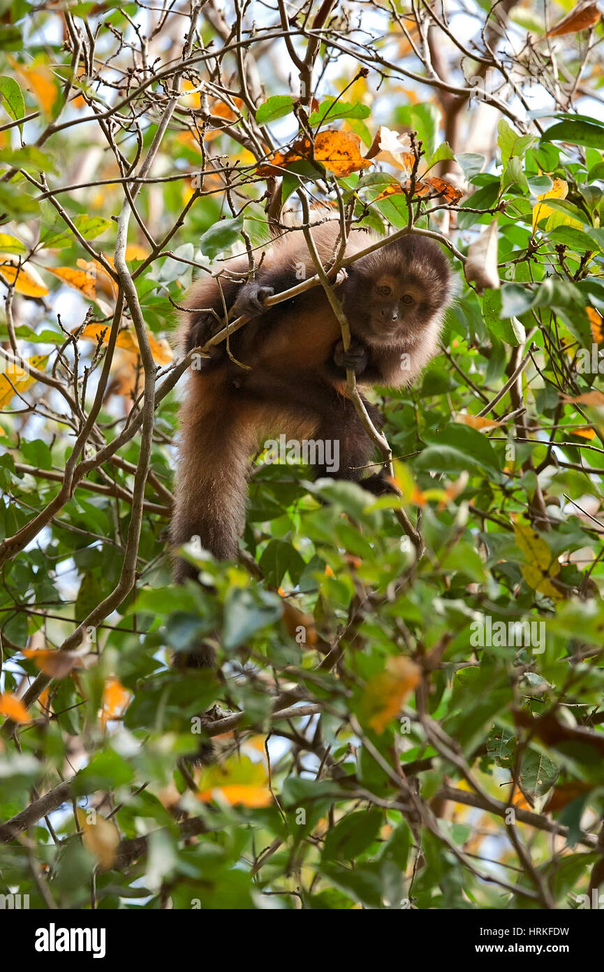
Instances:
[[[323,265],[333,259],[339,230],[337,222],[312,228]],[[378,239],[353,230],[346,256]],[[390,491],[384,472],[363,478],[375,446],[346,397],[346,370],[361,387],[410,385],[436,352],[453,291],[449,261],[425,236],[410,233],[352,262],[334,285],[352,332],[345,352],[320,285],[264,307],[267,297],[316,272],[300,230],[275,242],[253,280],[245,282],[248,266],[247,256],[225,261],[223,274],[197,281],[185,303],[180,329],[185,353],[221,330],[225,310],[231,320],[240,315],[252,320],[231,335],[228,346],[223,342],[211,358],[189,369],[171,528],[175,554],[198,537],[218,559],[236,559],[250,457],[270,436],[338,440],[338,471],[318,466],[318,476],[360,481],[376,495]],[[380,427],[378,409],[363,400]],[[177,582],[196,576],[195,567],[177,557]],[[211,654],[196,664],[213,665]]]

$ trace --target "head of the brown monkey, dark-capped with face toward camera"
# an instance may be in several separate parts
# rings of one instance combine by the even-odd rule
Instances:
[[[347,268],[342,285],[352,333],[374,346],[413,346],[449,302],[449,261],[429,238],[417,234],[386,243]]]

